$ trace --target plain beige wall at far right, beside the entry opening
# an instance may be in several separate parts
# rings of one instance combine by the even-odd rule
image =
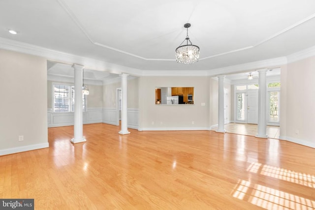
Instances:
[[[286,130],[284,131],[286,138],[312,147],[315,147],[314,78],[315,57],[289,63],[285,81],[286,101],[281,100],[282,104],[283,102],[286,104]],[[281,89],[283,89],[283,83]],[[282,117],[284,117],[283,114]]]

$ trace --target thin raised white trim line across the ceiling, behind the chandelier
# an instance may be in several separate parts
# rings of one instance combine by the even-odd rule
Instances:
[[[126,54],[126,55],[129,55],[129,56],[132,56],[132,57],[135,57],[135,58],[138,58],[138,59],[142,59],[142,60],[155,60],[155,61],[174,61],[175,59],[153,59],[153,58],[144,58],[144,57],[141,57],[141,56],[138,56],[138,55],[135,55],[135,54],[132,54],[132,53],[129,53],[129,52],[126,52],[126,51],[123,51],[123,50],[120,50],[120,49],[117,49],[117,48],[114,48],[114,47],[110,47],[108,45],[104,45],[104,44],[101,44],[101,43],[98,43],[98,42],[95,42],[90,34],[88,33],[88,31],[82,26],[82,24],[80,23],[80,21],[77,19],[77,17],[74,15],[74,13],[72,12],[72,10],[68,7],[68,5],[63,1],[63,0],[58,0],[58,2],[60,3],[60,5],[63,7],[63,9],[67,12],[67,14],[70,16],[70,18],[74,21],[74,23],[80,28],[80,30],[82,30],[82,32],[85,34],[85,36],[90,40],[90,42],[92,44],[95,44],[97,46],[100,46],[100,47],[104,47],[104,48],[107,48],[107,49],[110,49],[110,50],[114,50],[114,51],[117,51],[117,52],[120,52],[120,53],[123,53],[123,54]],[[235,50],[231,50],[231,51],[228,51],[228,52],[224,52],[224,53],[220,53],[220,54],[216,54],[216,55],[212,55],[212,56],[207,56],[207,57],[204,57],[204,58],[201,58],[199,60],[206,60],[206,59],[211,59],[211,58],[215,58],[215,57],[218,57],[218,56],[222,56],[222,55],[226,55],[226,54],[230,54],[230,53],[235,53],[235,52],[239,52],[239,51],[243,51],[243,50],[248,50],[248,49],[251,49],[251,48],[255,48],[283,33],[285,33],[286,31],[288,30],[291,30],[311,19],[315,18],[315,14],[303,19],[303,20],[300,20],[298,21],[297,23],[285,28],[284,30],[280,30],[279,32],[261,40],[260,42],[258,42],[257,44],[255,45],[252,45],[252,46],[247,46],[247,47],[243,47],[243,48],[239,48],[239,49],[235,49]]]

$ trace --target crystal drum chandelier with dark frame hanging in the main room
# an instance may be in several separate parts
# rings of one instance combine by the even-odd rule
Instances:
[[[187,36],[175,50],[176,61],[184,64],[192,64],[199,60],[199,47],[193,45],[189,39],[188,28],[190,27],[190,23],[185,24],[184,27],[187,29]],[[187,44],[182,45],[185,40],[187,40]]]

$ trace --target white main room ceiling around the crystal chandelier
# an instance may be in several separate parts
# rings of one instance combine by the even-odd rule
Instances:
[[[185,23],[191,65],[175,61]],[[315,1],[1,0],[1,37],[141,71],[211,70],[315,46]]]

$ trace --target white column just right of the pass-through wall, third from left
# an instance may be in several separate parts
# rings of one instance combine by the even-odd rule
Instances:
[[[224,130],[224,77],[225,75],[217,76],[219,78],[219,94],[218,94],[218,130],[216,132],[225,133]]]

